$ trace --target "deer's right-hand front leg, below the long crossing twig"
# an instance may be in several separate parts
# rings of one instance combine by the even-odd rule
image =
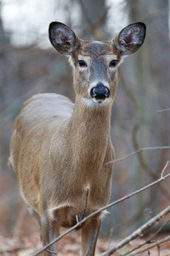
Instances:
[[[100,224],[101,217],[97,216],[82,227],[82,256],[94,256]]]

